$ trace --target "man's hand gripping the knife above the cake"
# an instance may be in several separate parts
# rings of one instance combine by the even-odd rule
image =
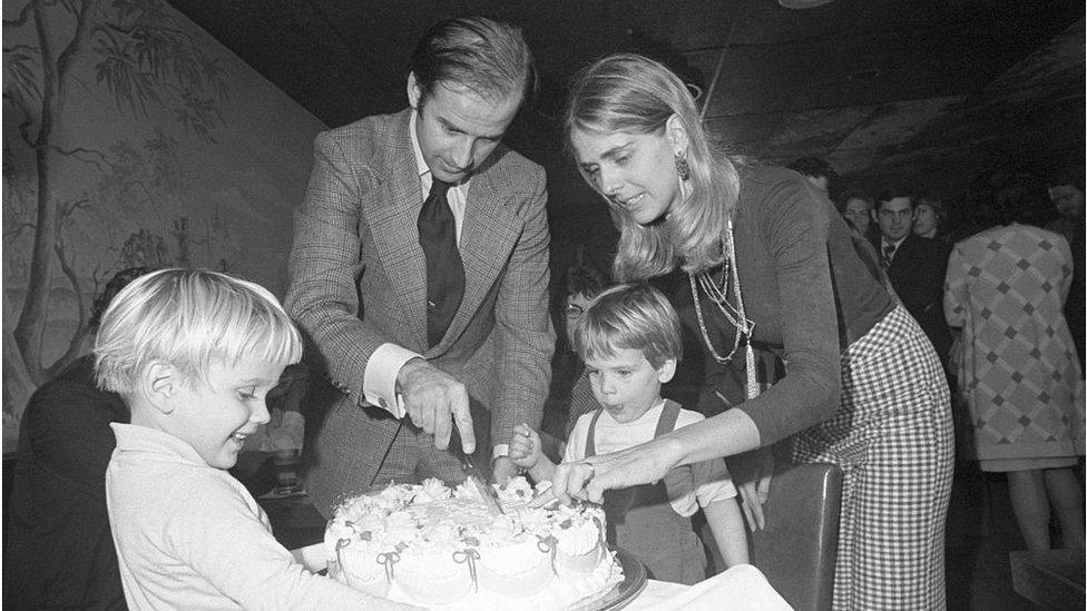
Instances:
[[[435,447],[449,447],[456,426],[463,452],[476,452],[476,432],[468,407],[468,390],[463,384],[429,362],[412,358],[400,368],[396,390],[403,397],[408,417],[423,432],[434,436]]]

